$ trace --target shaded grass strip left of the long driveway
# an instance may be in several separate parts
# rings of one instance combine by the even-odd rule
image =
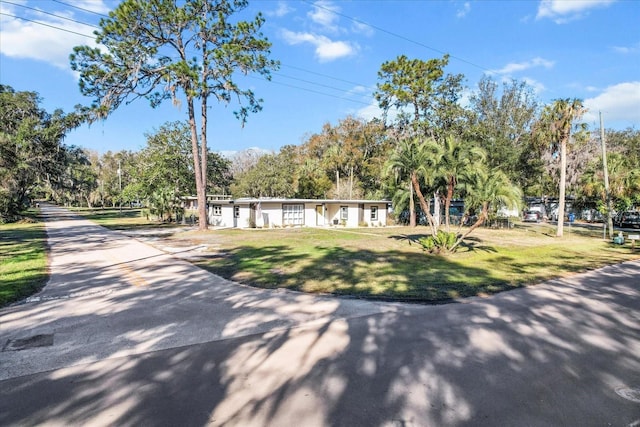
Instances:
[[[47,278],[44,224],[33,216],[17,223],[1,224],[0,307],[38,292]]]

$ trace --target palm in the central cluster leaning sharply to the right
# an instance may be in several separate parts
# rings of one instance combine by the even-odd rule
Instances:
[[[480,212],[476,222],[466,233],[458,237],[449,251],[453,251],[473,230],[484,224],[489,218],[490,209],[495,210],[500,206],[518,208],[522,202],[520,188],[512,184],[507,175],[499,169],[489,170],[482,165],[473,171],[467,171],[464,180],[465,205],[467,209],[479,209]]]

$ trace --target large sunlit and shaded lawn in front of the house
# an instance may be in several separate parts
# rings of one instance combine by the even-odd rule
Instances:
[[[640,258],[602,240],[598,229],[553,237],[548,225],[480,229],[455,254],[426,254],[424,228],[217,230],[174,235],[170,244],[206,244],[196,263],[264,288],[374,299],[442,302],[488,295]],[[475,236],[475,237],[474,237]]]

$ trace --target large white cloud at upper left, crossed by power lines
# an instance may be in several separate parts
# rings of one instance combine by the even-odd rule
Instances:
[[[93,27],[52,17],[29,19],[38,23],[3,16],[0,30],[2,55],[43,61],[70,70],[69,54],[73,47],[95,45]]]

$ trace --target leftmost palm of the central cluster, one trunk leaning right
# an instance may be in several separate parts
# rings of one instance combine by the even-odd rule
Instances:
[[[412,227],[416,226],[414,192],[420,202],[422,211],[429,220],[431,231],[437,233],[436,223],[429,211],[429,204],[424,198],[420,188],[420,178],[432,179],[429,172],[435,167],[438,146],[432,139],[420,142],[419,138],[404,138],[400,140],[389,160],[385,165],[386,175],[393,175],[396,182],[407,181],[409,188],[409,210]]]

